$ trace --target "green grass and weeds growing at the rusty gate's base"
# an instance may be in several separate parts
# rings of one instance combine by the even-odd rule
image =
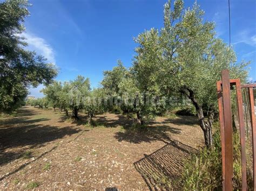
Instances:
[[[222,162],[220,133],[214,133],[214,148],[204,148],[187,162],[184,167],[181,182],[184,190],[218,190],[222,187]],[[234,160],[234,190],[241,189],[241,153],[240,139],[237,132],[233,135],[233,160]],[[251,181],[248,175],[248,181]],[[250,184],[250,182],[248,182]]]

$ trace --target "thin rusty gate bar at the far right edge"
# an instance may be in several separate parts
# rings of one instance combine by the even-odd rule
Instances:
[[[251,123],[252,123],[252,149],[253,149],[253,189],[256,190],[256,124],[255,124],[255,110],[254,110],[254,96],[253,88],[249,88],[249,98],[251,105]]]

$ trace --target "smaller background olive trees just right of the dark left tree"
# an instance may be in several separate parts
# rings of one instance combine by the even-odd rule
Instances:
[[[45,97],[36,100],[28,100],[27,104],[38,106],[39,108],[48,108],[65,111],[67,117],[78,120],[78,111],[87,112],[89,123],[92,122],[93,116],[100,111],[104,111],[104,91],[103,89],[90,88],[90,81],[83,76],[70,82],[53,81],[42,89]],[[106,105],[106,104],[105,104]],[[69,116],[71,110],[71,116]]]

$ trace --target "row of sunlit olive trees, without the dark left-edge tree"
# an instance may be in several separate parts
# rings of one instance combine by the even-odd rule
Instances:
[[[53,108],[69,108],[75,119],[79,109],[92,117],[114,100],[124,113],[136,113],[139,125],[170,109],[170,97],[181,97],[194,105],[205,144],[211,147],[212,124],[218,112],[215,83],[223,69],[230,70],[231,78],[245,81],[248,63],[237,62],[233,49],[215,36],[214,23],[205,22],[203,15],[197,3],[185,9],[184,2],[176,0],[171,9],[168,1],[164,27],[145,31],[135,39],[138,47],[132,67],[125,68],[118,61],[116,67],[104,72],[102,88],[93,91],[89,80],[79,76],[64,84],[54,82],[43,93]],[[86,103],[82,99],[86,96],[105,97],[105,101]],[[111,104],[107,109],[112,109]]]

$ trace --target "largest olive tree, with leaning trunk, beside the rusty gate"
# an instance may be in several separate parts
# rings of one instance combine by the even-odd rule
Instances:
[[[223,69],[229,69],[232,78],[246,79],[247,63],[237,62],[233,49],[215,37],[214,23],[204,22],[203,15],[196,3],[185,10],[183,1],[177,0],[171,10],[171,1],[167,2],[163,29],[151,29],[136,38],[133,71],[143,91],[186,96],[196,108],[205,144],[211,147],[217,112],[215,83]]]

